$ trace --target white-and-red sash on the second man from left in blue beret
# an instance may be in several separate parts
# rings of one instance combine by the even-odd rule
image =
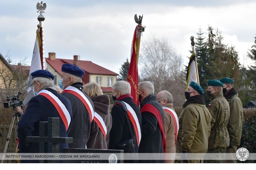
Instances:
[[[65,92],[75,95],[77,98],[79,98],[83,102],[84,106],[86,107],[89,113],[90,122],[92,122],[94,118],[94,109],[90,101],[83,94],[83,92],[73,86],[68,86],[65,90],[62,91],[62,93],[65,93]]]

